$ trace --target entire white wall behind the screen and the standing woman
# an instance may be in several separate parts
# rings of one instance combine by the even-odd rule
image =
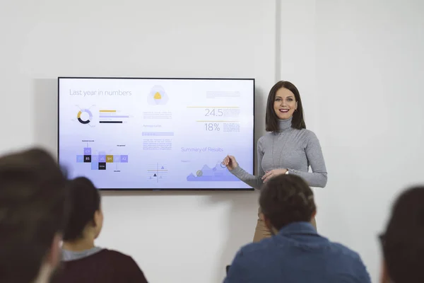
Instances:
[[[57,151],[57,76],[257,79],[257,137],[276,79],[302,93],[329,183],[319,231],[358,250],[377,281],[376,235],[402,187],[424,182],[423,2],[3,1],[0,152]],[[252,239],[256,193],[107,193],[98,243],[151,282],[220,282]]]

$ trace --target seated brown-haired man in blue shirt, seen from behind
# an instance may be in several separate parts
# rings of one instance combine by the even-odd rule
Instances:
[[[262,187],[259,204],[273,236],[242,247],[225,283],[371,282],[358,253],[314,229],[314,195],[302,178],[272,178]]]

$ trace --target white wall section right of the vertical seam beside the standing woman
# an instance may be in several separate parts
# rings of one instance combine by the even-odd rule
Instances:
[[[424,183],[424,2],[282,0],[281,78],[305,101],[329,182],[319,232],[358,250],[377,282],[400,190]]]

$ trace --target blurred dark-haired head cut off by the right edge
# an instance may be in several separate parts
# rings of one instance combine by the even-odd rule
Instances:
[[[411,187],[394,203],[380,236],[384,256],[382,282],[424,282],[424,187]]]

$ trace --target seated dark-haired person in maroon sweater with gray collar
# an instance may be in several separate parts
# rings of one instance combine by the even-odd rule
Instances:
[[[136,262],[94,245],[102,229],[100,193],[87,178],[69,182],[70,215],[64,231],[61,269],[55,283],[147,282]],[[124,237],[124,235],[122,235]]]

